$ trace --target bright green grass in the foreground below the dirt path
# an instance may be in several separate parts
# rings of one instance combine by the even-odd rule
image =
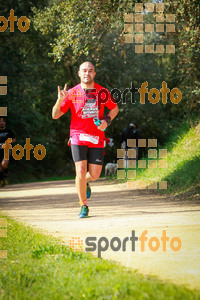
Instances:
[[[0,216],[4,217],[4,216]],[[200,299],[200,291],[144,277],[6,217],[0,299]]]

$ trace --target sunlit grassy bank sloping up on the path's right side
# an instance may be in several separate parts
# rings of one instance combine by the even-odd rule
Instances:
[[[137,169],[137,180],[167,181],[167,193],[200,193],[200,124],[189,128],[182,126],[174,132],[167,149],[167,168]],[[147,160],[147,159],[146,159]]]

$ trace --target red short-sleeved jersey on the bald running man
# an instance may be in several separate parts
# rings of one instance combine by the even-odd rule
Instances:
[[[71,110],[70,136],[78,133],[87,133],[105,137],[94,124],[93,118],[103,119],[104,107],[109,110],[116,107],[116,102],[110,92],[97,83],[93,89],[83,90],[81,84],[68,91],[67,97],[61,104],[61,111]]]

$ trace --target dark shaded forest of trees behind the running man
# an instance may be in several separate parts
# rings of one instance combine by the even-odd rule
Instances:
[[[124,127],[136,121],[143,138],[157,138],[160,145],[168,141],[173,130],[182,124],[192,127],[199,122],[200,112],[200,13],[198,0],[162,1],[165,13],[174,13],[176,32],[145,34],[144,44],[175,44],[175,54],[136,54],[135,44],[124,42],[124,14],[133,12],[140,1],[7,1],[0,3],[0,16],[6,18],[14,9],[15,16],[27,16],[30,28],[22,33],[17,28],[0,32],[0,76],[8,77],[8,94],[0,96],[1,106],[8,107],[8,127],[16,134],[17,143],[26,138],[36,146],[45,146],[47,154],[37,161],[12,160],[13,182],[42,179],[47,176],[73,176],[74,166],[67,146],[70,113],[52,120],[51,110],[57,99],[57,86],[72,87],[79,83],[79,65],[89,60],[96,66],[96,82],[110,91],[124,91],[133,82],[140,88],[161,89],[166,81],[170,90],[182,92],[179,104],[168,95],[166,105],[148,101],[118,103],[120,112],[106,130],[115,146],[106,148],[105,163],[116,160]],[[144,1],[144,3],[147,1]],[[148,3],[151,1],[148,1]],[[153,1],[158,3],[161,1]],[[153,14],[144,15],[145,23],[154,23]],[[1,24],[0,24],[1,25]],[[162,99],[162,97],[161,97]]]

